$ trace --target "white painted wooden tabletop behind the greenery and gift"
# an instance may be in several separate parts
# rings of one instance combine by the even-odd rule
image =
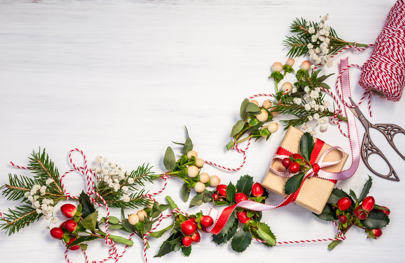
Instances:
[[[28,164],[32,149],[45,147],[60,173],[70,169],[68,152],[79,148],[90,163],[98,154],[132,170],[143,163],[153,171],[164,172],[164,151],[171,141],[184,141],[183,125],[188,127],[194,149],[201,158],[227,167],[239,167],[241,154],[227,152],[229,133],[239,118],[243,98],[274,92],[267,79],[271,64],[285,62],[281,44],[294,17],[317,21],[329,13],[329,24],[347,41],[373,43],[382,30],[386,15],[394,4],[387,1],[1,1],[0,2],[0,183],[8,173],[28,175],[10,161]],[[371,49],[362,53],[345,51],[325,73],[337,73],[339,59],[350,57],[362,65]],[[297,58],[297,70],[304,58]],[[359,71],[351,70],[356,100],[362,94],[357,85]],[[293,81],[289,75],[287,80]],[[335,77],[327,81],[333,86]],[[405,127],[405,100],[390,102],[372,98],[372,123],[394,123]],[[264,98],[259,98],[262,103]],[[332,101],[331,99],[329,99]],[[367,107],[360,109],[367,112]],[[276,121],[283,120],[277,116]],[[360,137],[364,129],[359,126]],[[189,259],[180,252],[162,259],[152,258],[168,233],[159,240],[150,238],[150,262],[191,260],[194,262],[291,262],[364,261],[403,262],[404,160],[378,133],[373,141],[386,153],[399,173],[401,182],[373,175],[371,195],[391,210],[391,223],[377,240],[366,239],[353,227],[347,240],[335,250],[328,242],[277,245],[266,248],[252,242],[243,253],[233,252],[230,244],[217,246],[209,234],[202,234],[193,245]],[[394,141],[404,148],[404,136]],[[277,145],[282,128],[269,141],[252,143],[245,167],[227,172],[206,165],[204,171],[216,174],[222,182],[236,182],[244,174],[261,182]],[[318,134],[331,145],[349,151],[349,142],[337,127]],[[79,155],[76,163],[81,163]],[[350,160],[346,168],[350,166]],[[376,164],[384,167],[381,161]],[[360,163],[356,175],[338,187],[359,193],[367,174]],[[163,180],[162,180],[163,181]],[[159,190],[162,181],[148,185]],[[85,180],[79,174],[66,179],[66,187],[78,194]],[[209,206],[188,209],[180,199],[181,182],[168,180],[167,189],[157,197],[171,195],[184,211],[208,213]],[[192,194],[193,195],[193,194]],[[271,193],[267,203],[282,199]],[[0,197],[0,211],[18,205]],[[57,205],[57,208],[62,203]],[[56,213],[62,219],[59,209]],[[104,212],[100,209],[101,213]],[[136,212],[127,211],[128,213]],[[114,211],[119,215],[119,210]],[[163,225],[169,224],[169,219]],[[330,222],[318,220],[298,205],[264,212],[263,221],[271,226],[278,241],[334,237]],[[3,262],[64,262],[62,242],[52,239],[45,220],[35,222],[10,237],[3,235],[0,250]],[[4,231],[2,231],[4,233]],[[106,246],[89,246],[90,259],[107,255]],[[70,252],[74,262],[83,262],[79,251]],[[134,247],[121,262],[143,262],[143,246]]]

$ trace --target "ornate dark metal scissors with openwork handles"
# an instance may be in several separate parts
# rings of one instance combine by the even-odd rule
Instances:
[[[356,106],[352,98],[350,98],[350,101],[352,102],[353,106]],[[369,135],[369,128],[375,128],[379,130],[384,136],[386,137],[388,143],[390,143],[391,147],[394,148],[394,150],[405,160],[405,156],[401,154],[398,149],[396,149],[394,142],[392,141],[394,135],[397,133],[403,133],[405,135],[405,130],[398,125],[395,124],[371,124],[363,115],[363,113],[358,109],[358,107],[351,108],[350,110],[354,113],[354,115],[360,120],[360,122],[363,124],[364,128],[366,129],[366,132],[364,133],[363,137],[363,142],[361,144],[361,158],[364,161],[364,164],[369,168],[370,171],[375,173],[376,175],[383,177],[388,180],[393,180],[393,181],[399,181],[399,177],[392,168],[391,164],[388,162],[387,158],[384,156],[384,154],[374,145],[373,141],[371,141],[370,135]],[[370,167],[368,158],[371,154],[378,154],[380,157],[382,157],[388,167],[390,167],[390,171],[387,175],[382,175],[381,173],[377,173],[374,171],[373,168]]]

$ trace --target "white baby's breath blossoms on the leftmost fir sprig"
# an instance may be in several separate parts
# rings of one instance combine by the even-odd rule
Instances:
[[[53,179],[49,179],[45,182],[48,185],[53,182]],[[43,214],[43,217],[46,220],[49,220],[51,218],[51,223],[56,224],[58,222],[58,218],[53,216],[53,200],[44,198],[42,199],[42,203],[40,202],[41,196],[45,195],[46,190],[46,186],[34,184],[30,191],[25,192],[24,197],[26,197],[31,202],[31,207],[34,208],[38,214]],[[37,195],[38,191],[40,193],[40,196]]]

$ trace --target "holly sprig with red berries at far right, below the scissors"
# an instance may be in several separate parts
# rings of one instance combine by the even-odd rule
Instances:
[[[349,194],[339,188],[334,188],[319,219],[339,221],[339,229],[345,234],[352,226],[360,227],[367,233],[367,238],[376,239],[382,235],[382,228],[389,224],[390,210],[385,206],[375,204],[369,194],[372,178],[364,184],[359,197],[350,189]],[[335,240],[328,245],[329,249],[335,248],[341,240]]]

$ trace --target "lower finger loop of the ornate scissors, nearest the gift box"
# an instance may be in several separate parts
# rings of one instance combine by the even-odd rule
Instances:
[[[377,173],[376,171],[374,171],[373,168],[370,167],[368,158],[371,154],[378,154],[386,161],[388,167],[390,167],[390,171],[387,175],[382,175],[381,173]],[[371,141],[369,133],[364,133],[363,143],[361,146],[361,158],[363,159],[367,168],[369,168],[370,171],[372,171],[376,175],[386,178],[388,180],[399,181],[398,175],[395,173],[394,168],[392,168],[391,164],[388,162],[388,160],[384,156],[384,154]]]

